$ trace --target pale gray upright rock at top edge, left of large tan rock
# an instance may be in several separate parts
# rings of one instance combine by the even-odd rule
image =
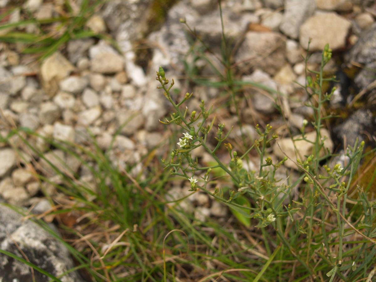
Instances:
[[[312,0],[285,0],[280,30],[291,38],[298,38],[300,26],[314,13],[315,8],[315,2]]]

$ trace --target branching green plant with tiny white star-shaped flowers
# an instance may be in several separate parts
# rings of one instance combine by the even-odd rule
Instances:
[[[199,110],[188,109],[184,103],[193,94],[186,93],[181,101],[177,101],[176,94],[171,91],[174,80],[171,79],[170,83],[162,67],[156,73],[156,80],[161,85],[158,88],[162,89],[174,109],[170,118],[161,122],[181,128],[170,158],[163,160],[165,169],[189,181],[190,191],[202,190],[229,206],[247,229],[253,228],[253,232],[259,230],[268,258],[263,258],[266,260],[263,260],[257,274],[248,274],[254,280],[261,279],[268,272],[269,276],[265,277],[274,275],[275,280],[282,281],[290,279],[291,275],[299,277],[298,280],[353,281],[367,277],[373,271],[376,241],[372,237],[375,237],[376,229],[372,211],[376,202],[369,200],[367,191],[360,186],[358,197],[350,199],[348,196],[365,155],[364,141],[346,149],[344,155],[348,161],[331,164],[329,160],[333,155],[325,148],[325,137],[321,136],[323,121],[334,118],[323,114],[324,105],[335,91],[323,91],[323,83],[335,79],[323,74],[331,56],[331,49],[326,45],[320,70],[306,67],[306,83],[301,86],[308,94],[306,106],[313,109],[314,117],[310,122],[303,122],[302,134],[293,141],[305,140],[314,149],[312,155],[303,156],[303,159],[290,159],[299,168],[300,175],[282,184],[280,179],[276,179],[276,171],[289,157],[273,162],[268,156],[267,148],[278,142],[278,135],[269,124],[264,129],[257,125],[259,137],[240,153],[226,142],[231,128],[226,130],[225,124],[215,125],[215,118],[211,117],[213,106],[208,108],[202,101]],[[316,132],[314,141],[306,138],[308,126]],[[209,142],[213,134],[214,145]],[[202,166],[197,158],[193,158],[192,151],[198,147],[203,147],[212,156],[214,165]],[[228,163],[218,157],[220,150],[227,150],[230,156]],[[251,150],[259,155],[258,171],[243,167]],[[214,190],[210,188],[211,183],[218,183],[215,170],[221,170],[227,176],[221,180],[221,185],[227,182],[225,186],[231,187],[230,190],[221,188],[221,185]],[[298,190],[295,200],[290,196],[294,189]],[[363,209],[360,218],[354,216],[359,209]]]

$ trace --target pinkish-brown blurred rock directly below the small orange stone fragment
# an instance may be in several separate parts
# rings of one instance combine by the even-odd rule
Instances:
[[[275,74],[286,62],[285,38],[277,32],[247,32],[240,45],[235,61],[241,68],[250,69],[256,66]]]

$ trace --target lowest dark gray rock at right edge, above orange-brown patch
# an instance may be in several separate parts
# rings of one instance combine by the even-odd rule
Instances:
[[[354,112],[346,121],[335,126],[333,132],[337,138],[345,141],[346,144],[354,146],[356,138],[364,140],[362,131],[372,127],[372,112],[370,110],[359,109]]]

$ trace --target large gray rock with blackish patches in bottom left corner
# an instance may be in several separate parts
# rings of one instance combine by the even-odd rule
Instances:
[[[26,255],[32,264],[55,277],[74,267],[69,252],[61,241],[38,224],[23,220],[20,214],[2,205],[0,205],[0,249],[20,258],[23,258],[23,254]],[[34,270],[34,278],[35,281],[49,280],[37,270]],[[76,271],[64,275],[60,280],[83,281]],[[30,267],[0,253],[0,281],[32,281]]]

